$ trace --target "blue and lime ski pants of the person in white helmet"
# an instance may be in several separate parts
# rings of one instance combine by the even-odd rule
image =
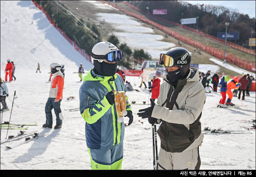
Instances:
[[[90,149],[92,170],[121,170],[124,146],[123,141],[106,149]]]

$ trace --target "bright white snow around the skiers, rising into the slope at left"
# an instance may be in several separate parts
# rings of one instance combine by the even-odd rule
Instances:
[[[19,141],[12,141],[0,146],[0,168],[3,169],[91,169],[90,156],[85,141],[85,121],[79,111],[69,111],[79,107],[79,88],[82,84],[77,72],[83,63],[86,71],[93,65],[85,60],[74,48],[51,26],[40,10],[34,8],[31,1],[1,1],[1,77],[4,78],[6,60],[16,65],[16,81],[7,83],[11,108],[14,91],[17,99],[13,105],[11,120],[13,124],[33,124],[26,132],[37,131],[44,135],[34,141],[13,149]],[[11,10],[10,10],[11,7]],[[7,22],[5,22],[7,19]],[[33,21],[33,24],[31,23]],[[37,63],[41,73],[36,73]],[[45,104],[51,83],[49,65],[52,62],[65,64],[63,100],[61,102],[64,116],[61,129],[44,129]],[[132,105],[134,122],[126,127],[124,138],[123,170],[152,170],[152,129],[147,120],[137,116],[138,110],[146,108],[149,92],[141,90],[138,77],[127,76],[127,80],[138,91],[127,91]],[[162,79],[161,79],[162,80]],[[163,80],[162,80],[163,81]],[[147,84],[147,83],[146,83]],[[144,87],[144,86],[143,86]],[[68,101],[66,98],[74,96]],[[251,124],[241,121],[255,119],[255,92],[245,97],[243,102],[236,97],[232,102],[238,108],[215,108],[220,100],[220,93],[206,94],[203,108],[202,128],[221,128],[240,130],[243,134],[204,135],[200,147],[201,169],[256,169],[255,167],[255,130],[247,130]],[[53,113],[53,126],[55,114]],[[1,114],[2,116],[2,114]],[[10,111],[3,112],[3,122],[9,121]],[[139,121],[140,120],[140,121]],[[128,123],[128,118],[125,118]],[[141,124],[143,122],[143,124]],[[19,130],[9,130],[9,135],[17,135]],[[1,142],[6,138],[7,130],[1,132]],[[21,140],[22,141],[22,140]],[[160,140],[158,137],[158,149]]]

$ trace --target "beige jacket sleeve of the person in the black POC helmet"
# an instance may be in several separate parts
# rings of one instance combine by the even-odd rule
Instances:
[[[184,110],[155,105],[151,116],[174,124],[192,124],[201,114],[205,98],[204,88],[198,85],[186,98]]]

